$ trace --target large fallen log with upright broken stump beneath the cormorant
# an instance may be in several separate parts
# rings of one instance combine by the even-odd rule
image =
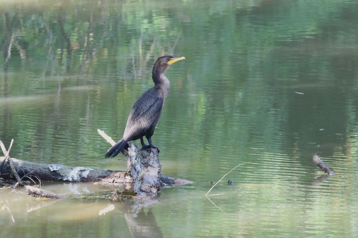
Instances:
[[[158,176],[158,152],[148,148],[141,150],[130,143],[129,151],[122,151],[129,158],[129,171],[112,171],[84,167],[69,167],[62,164],[44,164],[23,161],[12,158],[14,168],[22,180],[41,182],[98,182],[110,186],[120,187],[124,191],[134,191],[138,196],[154,196],[160,187],[179,186],[191,183],[191,181],[179,178],[171,178],[159,174]],[[158,161],[158,164],[155,164]],[[145,164],[148,168],[144,168]],[[0,157],[0,178],[15,180],[11,168],[5,162],[5,157]],[[160,166],[160,164],[159,164]],[[135,168],[133,168],[135,167]],[[153,176],[160,180],[156,180]],[[135,179],[133,179],[133,177]],[[153,186],[149,182],[155,181]],[[135,182],[136,181],[136,182]],[[134,190],[136,188],[136,190]],[[146,194],[148,193],[148,194]]]

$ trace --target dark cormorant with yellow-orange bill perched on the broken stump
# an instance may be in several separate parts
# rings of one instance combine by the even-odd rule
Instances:
[[[184,60],[185,57],[175,58],[173,56],[160,57],[153,66],[153,81],[155,86],[147,90],[140,96],[132,107],[124,130],[123,138],[112,146],[105,157],[115,157],[127,145],[128,141],[140,139],[142,149],[148,147],[157,148],[152,143],[156,123],[159,120],[165,98],[170,90],[170,82],[164,75],[164,70],[176,61]],[[143,136],[147,138],[149,145],[145,145]]]

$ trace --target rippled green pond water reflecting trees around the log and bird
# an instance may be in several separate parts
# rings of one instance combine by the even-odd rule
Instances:
[[[170,54],[186,60],[165,71],[152,139],[161,172],[193,181],[142,212],[98,198],[110,192],[98,184],[44,184],[69,196],[55,203],[0,190],[1,237],[357,237],[357,11],[354,0],[0,1],[11,157],[126,169],[104,158],[97,128],[122,137]],[[321,177],[314,153],[335,176]]]

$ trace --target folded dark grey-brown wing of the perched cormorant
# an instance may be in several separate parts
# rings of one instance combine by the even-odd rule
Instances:
[[[155,88],[150,88],[138,99],[129,114],[123,138],[137,140],[158,121],[164,98]]]

